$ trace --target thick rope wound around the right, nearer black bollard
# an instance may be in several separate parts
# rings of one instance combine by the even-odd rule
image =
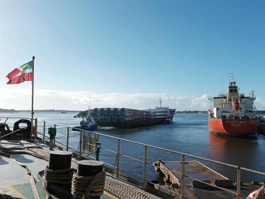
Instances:
[[[72,195],[80,199],[89,199],[89,197],[96,197],[103,195],[105,186],[106,172],[102,171],[95,176],[77,176],[73,174],[72,178]],[[100,190],[100,191],[96,191]]]

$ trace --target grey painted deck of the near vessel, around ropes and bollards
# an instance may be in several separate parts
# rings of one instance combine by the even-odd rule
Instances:
[[[46,144],[38,140],[35,140],[35,144],[45,149],[49,149],[49,147]],[[23,147],[23,143],[19,140],[0,140],[0,148],[13,148],[13,147]],[[28,151],[28,150],[19,150],[19,151]],[[25,168],[21,166],[24,165],[31,171],[34,180],[36,181],[35,184],[40,199],[46,199],[45,193],[42,190],[42,183],[38,179],[37,173],[40,172],[41,170],[44,170],[44,168],[48,165],[48,162],[46,160],[39,159],[37,157],[28,154],[11,154],[11,155],[13,158],[5,157],[4,154],[0,154],[0,169],[1,169],[0,194],[2,194],[3,196],[8,195],[19,199],[35,199],[33,194],[33,189],[31,188],[30,184],[30,175],[28,175]],[[107,173],[106,176],[107,178],[111,178],[111,174],[109,173]],[[113,180],[132,187],[131,184],[127,184],[125,181],[122,181],[120,179],[113,178]],[[141,191],[137,187],[133,187],[133,189]],[[58,199],[58,198],[66,199],[65,197],[62,197],[60,195],[54,196],[53,194],[51,194],[51,196],[53,199]],[[156,196],[152,196],[152,198],[161,199]],[[100,199],[118,199],[118,198],[104,191],[104,195],[102,195]]]

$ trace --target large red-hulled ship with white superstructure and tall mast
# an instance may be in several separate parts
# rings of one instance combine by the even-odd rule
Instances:
[[[230,73],[227,94],[220,93],[218,97],[209,98],[213,108],[208,110],[209,131],[225,135],[250,135],[258,129],[254,91],[249,97],[239,93],[239,88]]]

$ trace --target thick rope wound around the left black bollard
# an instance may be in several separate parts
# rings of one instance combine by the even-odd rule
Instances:
[[[44,170],[44,179],[47,182],[51,183],[60,183],[65,185],[70,185],[73,172],[76,172],[75,169],[62,169],[62,170],[50,170],[46,166]]]

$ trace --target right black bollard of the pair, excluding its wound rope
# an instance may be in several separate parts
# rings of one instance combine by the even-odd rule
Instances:
[[[103,171],[103,164],[103,162],[95,160],[78,161],[77,175],[83,177],[95,176],[97,173]],[[100,199],[100,196],[90,198]]]

